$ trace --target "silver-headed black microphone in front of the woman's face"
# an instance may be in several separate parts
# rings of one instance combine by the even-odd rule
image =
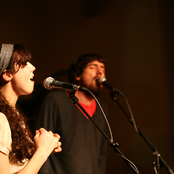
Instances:
[[[81,86],[54,80],[54,78],[52,78],[52,77],[47,77],[43,81],[43,86],[49,90],[52,88],[59,88],[59,89],[63,89],[66,91],[85,91],[85,88],[83,88]]]

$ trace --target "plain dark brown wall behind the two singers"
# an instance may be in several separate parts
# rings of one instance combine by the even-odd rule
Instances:
[[[0,5],[0,42],[22,43],[32,52],[36,84],[67,69],[79,55],[107,59],[107,80],[128,99],[137,126],[174,170],[174,1],[5,0]],[[110,98],[114,142],[142,174],[156,158]],[[125,101],[118,97],[127,110]],[[71,145],[70,145],[71,146]],[[132,171],[108,145],[107,174]],[[167,173],[162,168],[161,173]]]

